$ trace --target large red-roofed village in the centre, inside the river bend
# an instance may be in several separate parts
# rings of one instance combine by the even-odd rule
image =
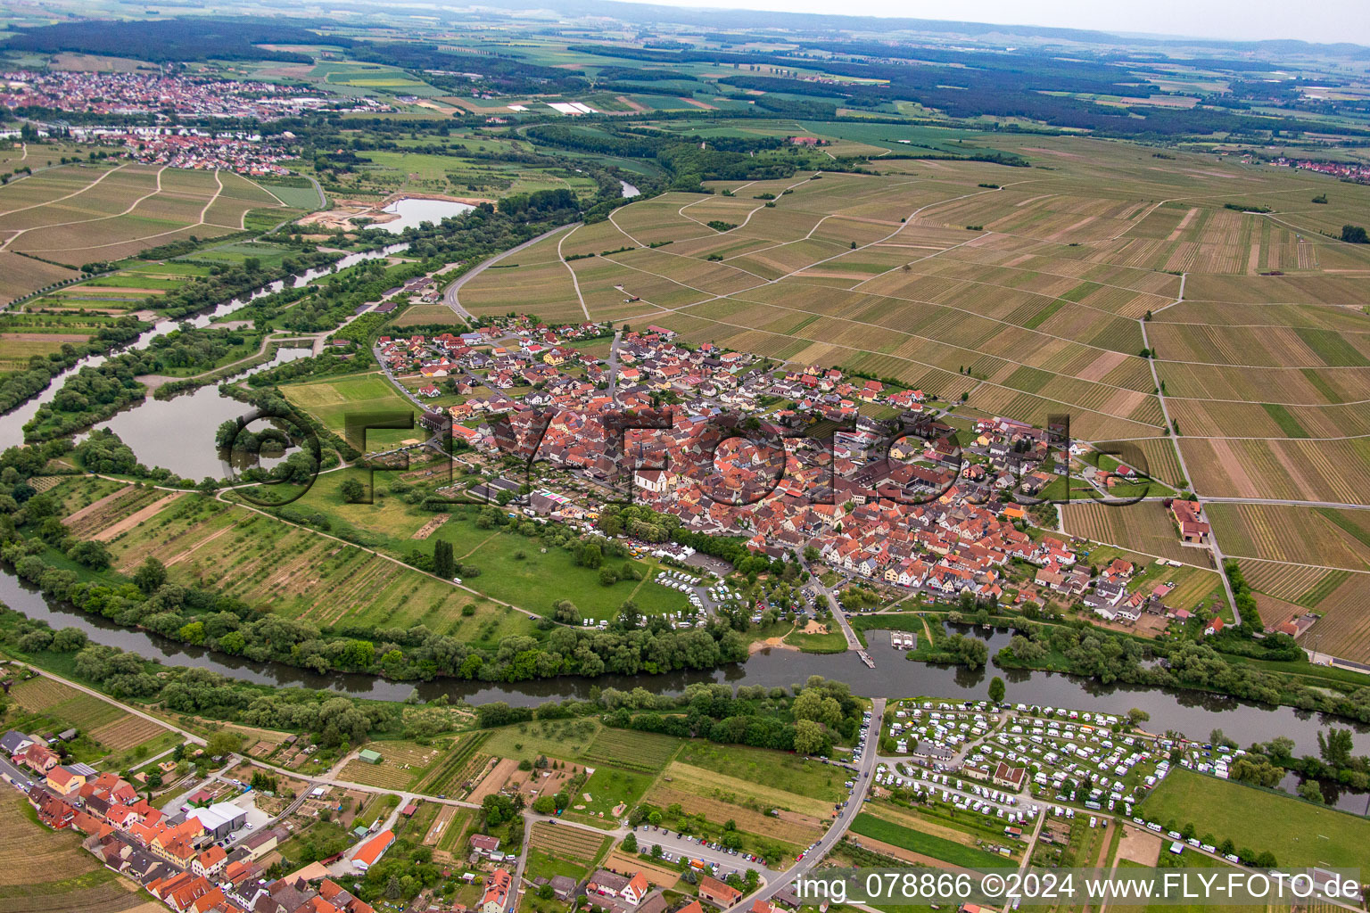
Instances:
[[[437,294],[429,279],[395,292]],[[375,356],[423,409],[429,443],[451,434],[467,467],[495,468],[490,460],[514,449],[533,459],[536,479],[501,470],[474,491],[458,482],[448,494],[497,498],[589,531],[607,491],[692,532],[741,537],[755,554],[830,571],[833,589],[1074,605],[1147,635],[1191,621],[1191,608],[1167,602],[1175,586],[1163,578],[1178,561],[1093,567],[1082,560],[1089,542],[1043,528],[1056,517],[1043,502],[1069,485],[1095,498],[1148,486],[1144,472],[1086,443],[1006,417],[967,422],[955,404],[837,368],[775,368],[708,342],[685,346],[655,326],[621,330],[607,357],[588,352],[603,352],[611,333],[507,318],[462,334],[381,337]],[[544,413],[545,428],[534,424]],[[1167,497],[1163,506],[1180,541],[1208,548],[1197,502]],[[677,558],[693,552],[660,539],[633,545]],[[1218,615],[1203,620],[1204,634],[1223,627]]]

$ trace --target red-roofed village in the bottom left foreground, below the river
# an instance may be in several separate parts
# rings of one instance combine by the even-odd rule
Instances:
[[[0,780],[27,798],[38,821],[55,831],[82,834],[82,847],[104,866],[132,879],[177,913],[374,913],[370,903],[344,884],[377,866],[399,839],[419,839],[427,831],[425,843],[433,842],[432,838],[443,831],[448,819],[438,817],[434,823],[432,817],[416,814],[421,805],[443,808],[445,803],[448,810],[460,805],[477,808],[471,802],[448,801],[447,797],[396,795],[375,788],[356,793],[359,784],[332,777],[290,780],[293,788],[281,795],[266,788],[278,786],[278,773],[245,760],[240,762],[236,756],[212,758],[223,764],[222,769],[203,786],[192,786],[189,793],[173,783],[155,799],[162,803],[158,808],[152,799],[153,790],[142,775],[134,786],[114,772],[97,772],[86,764],[59,762],[58,746],[63,736],[70,739],[74,732],[51,738],[15,730],[5,732],[0,736]],[[193,749],[193,753],[200,757],[203,749]],[[355,757],[359,762],[379,762],[375,751],[363,750]],[[174,767],[163,765],[169,773]],[[247,776],[247,771],[252,771],[251,784],[227,776],[227,772]],[[263,790],[255,797],[256,786]],[[170,801],[169,795],[173,797]],[[303,827],[308,827],[307,819],[311,817],[327,821],[330,812],[342,813],[358,797],[382,812],[393,810],[388,817],[371,817],[369,824],[362,823],[358,814],[352,819],[355,827],[345,850],[292,872],[273,875],[279,871],[278,850],[292,838],[292,831],[301,827],[301,821]],[[255,802],[267,805],[270,812],[256,808]],[[408,827],[418,820],[426,821],[418,831]],[[541,827],[552,823],[556,821],[544,821]],[[255,827],[258,830],[253,831]],[[563,823],[562,830],[566,827],[577,825]],[[578,825],[578,830],[593,831],[585,825]],[[647,830],[647,825],[637,830]],[[597,842],[600,838],[592,839]],[[507,913],[516,895],[526,890],[601,913],[704,913],[700,902],[711,909],[726,909],[743,895],[737,886],[714,877],[722,875],[717,862],[703,860],[681,861],[695,873],[692,877],[697,884],[697,899],[682,899],[675,892],[667,895],[659,887],[662,876],[658,869],[652,869],[653,877],[648,880],[641,869],[606,861],[606,866],[596,868],[588,877],[536,876],[522,884],[519,876],[527,846],[521,851],[501,851],[497,836],[480,832],[462,838],[460,846],[464,853],[444,862],[448,868],[443,875],[463,886],[462,894],[469,901],[438,902],[434,897],[430,906],[416,909]],[[649,854],[647,849],[641,847],[644,858],[674,858],[659,851]],[[715,849],[711,853],[701,845],[696,856],[726,858],[722,847]],[[777,902],[784,899],[777,898]],[[790,899],[788,909],[796,909],[797,899]],[[400,909],[392,903],[385,906]],[[766,901],[756,901],[751,909],[754,913],[775,910]]]

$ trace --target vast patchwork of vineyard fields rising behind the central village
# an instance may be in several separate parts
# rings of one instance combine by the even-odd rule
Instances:
[[[803,129],[864,151],[904,130]],[[1049,160],[1049,175],[891,159],[873,160],[880,177],[801,172],[717,183],[727,197],[667,193],[486,271],[462,303],[649,320],[686,342],[966,394],[969,415],[1044,424],[1064,412],[1075,437],[1132,441],[1155,478],[1200,496],[1356,500],[1345,467],[1370,465],[1370,296],[1334,271],[1370,257],[1289,227],[1319,215],[1307,205],[1315,178],[1088,140],[1069,151],[1054,138],[995,141]],[[1345,193],[1370,205],[1365,188]],[[1226,208],[1233,196],[1277,215]]]

